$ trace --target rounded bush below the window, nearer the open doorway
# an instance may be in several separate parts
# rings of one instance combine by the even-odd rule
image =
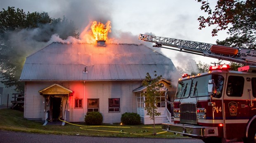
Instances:
[[[102,125],[103,117],[100,112],[87,112],[85,115],[85,124]]]

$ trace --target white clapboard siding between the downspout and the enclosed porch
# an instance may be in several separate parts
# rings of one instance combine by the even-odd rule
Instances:
[[[85,82],[85,98],[100,100],[100,113],[104,123],[120,122],[125,112],[137,112],[136,95],[133,90],[141,81]],[[120,98],[120,112],[109,112],[109,98]]]

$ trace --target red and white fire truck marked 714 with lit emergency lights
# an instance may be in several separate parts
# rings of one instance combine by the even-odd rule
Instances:
[[[204,142],[256,142],[256,67],[228,65],[179,79],[174,121],[162,129]]]

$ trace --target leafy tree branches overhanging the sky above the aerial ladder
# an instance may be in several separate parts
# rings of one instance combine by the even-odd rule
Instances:
[[[208,1],[200,2],[201,10],[209,16],[199,16],[199,29],[216,25],[212,30],[212,36],[216,36],[221,30],[228,30],[230,37],[216,43],[225,46],[244,48],[256,48],[256,1],[255,0],[218,0],[215,9],[212,10]]]

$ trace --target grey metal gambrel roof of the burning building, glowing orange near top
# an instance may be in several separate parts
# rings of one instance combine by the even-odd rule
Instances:
[[[26,58],[20,80],[140,80],[154,71],[171,79],[176,69],[171,59],[144,45],[52,43]]]

